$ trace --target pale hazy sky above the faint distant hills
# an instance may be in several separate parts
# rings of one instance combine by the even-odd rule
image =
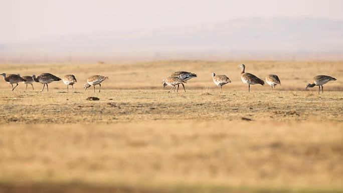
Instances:
[[[342,8],[340,0],[0,0],[0,44],[248,17],[343,19]]]

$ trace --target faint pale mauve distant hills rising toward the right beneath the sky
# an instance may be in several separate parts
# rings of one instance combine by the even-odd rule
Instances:
[[[119,30],[118,30],[119,31]],[[40,53],[63,56],[89,53],[341,53],[343,21],[327,19],[229,20],[214,25],[195,25],[131,32],[45,37],[18,45],[1,45],[0,54]],[[225,54],[224,54],[225,55]]]

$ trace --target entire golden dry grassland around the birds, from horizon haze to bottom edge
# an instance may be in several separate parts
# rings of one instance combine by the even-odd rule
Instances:
[[[282,86],[239,78],[238,64]],[[328,68],[329,67],[329,68]],[[4,64],[6,73],[75,74],[50,91],[15,92],[0,81],[0,192],[342,192],[341,62],[165,61],[132,64]],[[198,74],[166,93],[171,72]],[[0,72],[0,73],[2,73]],[[211,73],[233,81],[223,87]],[[109,76],[101,93],[81,89]],[[318,74],[337,81],[304,91]],[[89,96],[99,101],[87,101]],[[251,121],[249,121],[251,120]]]

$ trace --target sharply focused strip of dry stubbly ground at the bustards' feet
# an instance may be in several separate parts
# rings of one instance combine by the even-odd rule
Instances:
[[[99,101],[87,101],[89,96]],[[117,123],[151,120],[343,120],[341,92],[103,90],[0,92],[0,123]],[[324,116],[323,116],[324,115]]]

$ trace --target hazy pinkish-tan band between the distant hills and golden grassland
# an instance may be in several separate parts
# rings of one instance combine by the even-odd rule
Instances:
[[[125,52],[125,53],[26,53],[0,57],[0,63],[112,63],[146,61],[343,61],[343,52],[247,52],[247,51],[189,51],[189,52]]]

